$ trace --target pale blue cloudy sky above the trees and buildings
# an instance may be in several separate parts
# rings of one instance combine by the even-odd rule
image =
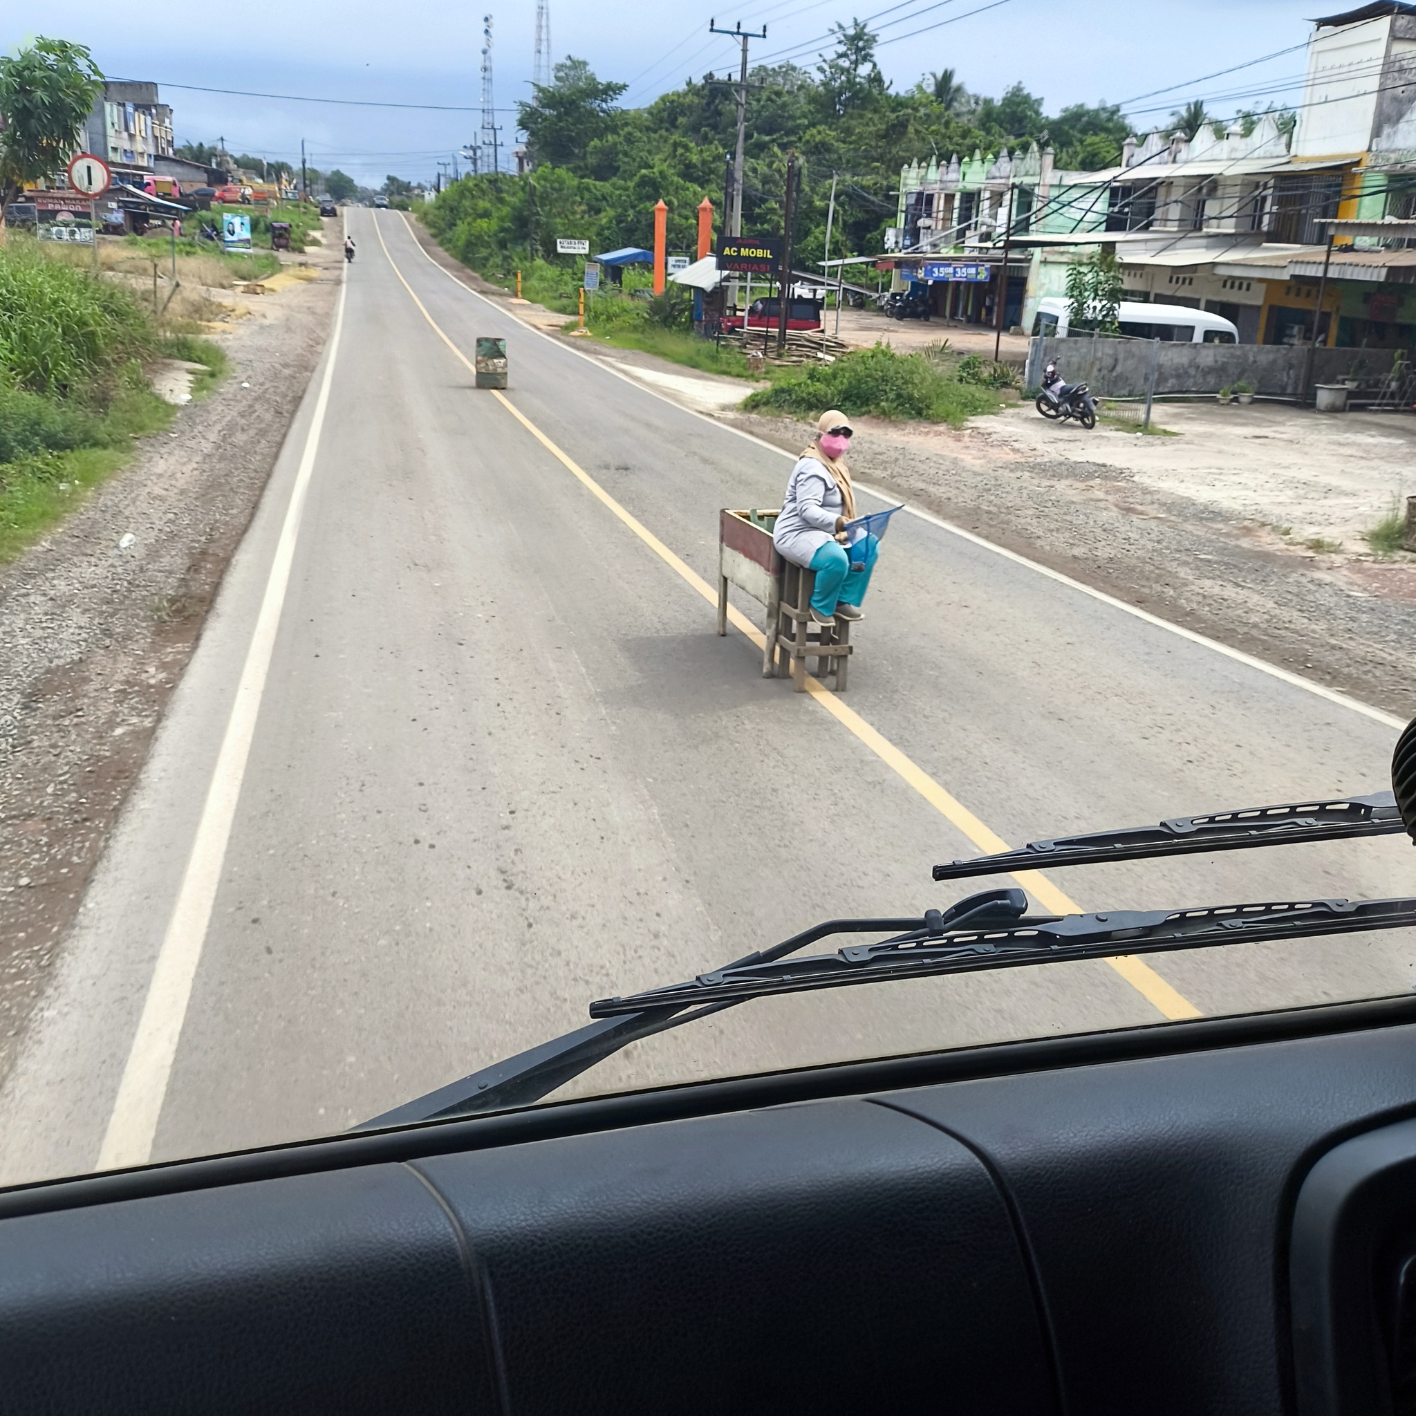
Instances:
[[[497,122],[504,125],[503,166],[508,166],[514,105],[531,95],[535,0],[483,3],[491,7],[494,102]],[[857,14],[878,16],[872,28],[881,31],[879,62],[896,89],[908,89],[927,71],[952,67],[976,93],[1001,93],[1021,81],[1042,95],[1049,112],[1076,102],[1121,102],[1144,132],[1189,98],[1216,96],[1216,113],[1291,99],[1301,79],[1301,50],[1197,81],[1301,45],[1317,13],[1297,0],[874,0],[878,8],[854,10],[843,0],[766,0],[741,11],[718,8],[724,3],[704,0],[700,14],[700,0],[681,6],[549,0],[552,54],[556,59],[573,54],[602,78],[629,84],[622,102],[637,106],[688,76],[724,74],[736,64],[738,44],[711,35],[712,20],[728,27],[741,20],[743,28],[755,30],[766,24],[767,40],[750,47],[753,62],[794,58],[813,65],[818,51],[830,47],[823,37],[833,24]],[[1330,13],[1321,4],[1317,10]],[[663,20],[666,14],[671,21]],[[161,85],[178,142],[225,137],[234,153],[299,161],[303,139],[313,166],[338,167],[378,185],[389,173],[430,181],[439,161],[450,166],[455,152],[476,139],[481,18],[483,11],[449,0],[303,0],[299,6],[244,0],[238,10],[200,17],[185,0],[147,0],[137,10],[110,0],[20,0],[0,17],[0,48],[13,54],[35,35],[86,44],[106,75]],[[202,88],[467,112],[195,91]],[[1157,89],[1165,92],[1141,96]]]

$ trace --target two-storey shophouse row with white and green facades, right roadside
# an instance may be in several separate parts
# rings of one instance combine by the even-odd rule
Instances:
[[[1240,343],[1303,343],[1314,330],[1337,344],[1406,338],[1409,309],[1393,293],[1406,259],[1355,258],[1405,238],[1338,234],[1321,317],[1313,270],[1334,218],[1416,215],[1416,4],[1314,21],[1294,119],[1291,130],[1262,115],[1205,123],[1192,139],[1134,136],[1102,171],[1058,170],[1035,144],[909,163],[881,263],[936,314],[991,324],[1003,290],[1004,327],[1031,329],[1038,302],[1065,295],[1069,266],[1104,245],[1124,299],[1221,314]]]

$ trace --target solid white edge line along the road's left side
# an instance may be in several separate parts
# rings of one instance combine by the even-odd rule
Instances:
[[[304,452],[290,487],[290,501],[280,527],[275,559],[266,579],[261,613],[256,616],[246,660],[236,684],[236,695],[231,705],[231,716],[221,739],[221,752],[211,773],[211,786],[201,809],[197,833],[191,843],[191,855],[183,872],[177,891],[177,902],[167,922],[167,933],[157,954],[153,977],[147,984],[147,998],[137,1032],[127,1054],[123,1079],[113,1102],[113,1113],[108,1121],[103,1146],[99,1150],[98,1168],[118,1170],[123,1165],[146,1165],[153,1153],[153,1137],[161,1116],[167,1083],[171,1078],[177,1044],[183,1022],[187,1018],[187,1004],[197,977],[207,926],[211,922],[211,908],[221,885],[221,871],[227,857],[227,843],[231,840],[231,826],[241,799],[241,782],[255,736],[256,716],[261,712],[261,697],[270,670],[270,656],[275,650],[276,632],[280,627],[280,610],[285,605],[286,588],[290,582],[290,565],[295,559],[295,542],[300,532],[300,515],[304,510],[304,496],[314,470],[314,455],[320,443],[320,429],[324,426],[324,411],[330,401],[330,384],[334,378],[334,360],[338,353],[340,330],[344,324],[344,292],[347,286],[340,278],[340,302],[334,316],[334,331],[330,336],[329,360],[324,378],[314,404],[309,432],[304,435]]]

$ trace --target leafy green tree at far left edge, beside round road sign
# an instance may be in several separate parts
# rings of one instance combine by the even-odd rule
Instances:
[[[102,86],[82,44],[40,38],[0,55],[0,222],[25,183],[64,171]]]

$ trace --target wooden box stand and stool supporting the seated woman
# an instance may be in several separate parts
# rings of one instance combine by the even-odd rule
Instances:
[[[816,677],[830,675],[837,692],[845,691],[851,656],[851,626],[845,620],[816,624],[811,592],[816,573],[777,555],[772,544],[776,511],[732,511],[718,517],[718,633],[728,633],[728,586],[766,606],[762,644],[762,677],[792,675],[796,691],[806,692],[806,661],[816,660]]]

